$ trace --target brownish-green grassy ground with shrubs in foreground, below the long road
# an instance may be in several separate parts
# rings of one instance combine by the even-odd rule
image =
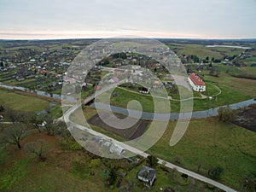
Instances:
[[[63,149],[56,137],[47,136],[44,133],[34,133],[30,137],[26,137],[22,146],[37,139],[44,139],[46,142],[44,148],[46,148],[47,153],[44,154],[46,157],[44,162],[28,154],[24,148],[18,150],[9,146],[7,151],[4,152],[7,153],[8,159],[1,164],[1,191],[119,192],[127,191],[124,190],[127,188],[130,188],[131,191],[142,191],[144,188],[143,183],[136,177],[141,166],[147,165],[144,161],[135,165],[127,160],[121,162],[119,160],[104,160],[81,150]],[[11,153],[9,153],[10,151]],[[119,187],[116,187],[116,185],[113,187],[106,186],[109,170],[106,163],[107,165],[120,167],[119,171],[127,173],[125,177],[117,177],[116,183],[120,182]],[[160,188],[165,189],[169,186],[181,192],[187,192],[189,189],[212,191],[206,184],[194,179],[195,187],[192,187],[192,178],[188,177],[184,180],[178,172],[172,172],[171,170],[166,172],[160,166],[156,166],[155,169],[157,180],[153,189],[151,189],[153,191],[158,191]]]

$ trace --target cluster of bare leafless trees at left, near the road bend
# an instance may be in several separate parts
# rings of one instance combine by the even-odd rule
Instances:
[[[21,148],[21,141],[33,129],[37,129],[39,133],[45,131],[50,136],[71,137],[70,132],[67,130],[67,125],[62,121],[55,122],[49,113],[38,115],[6,108],[4,115],[5,119],[9,119],[10,124],[2,127],[1,143],[15,144],[17,148]],[[33,153],[35,153],[35,150],[33,150]]]

